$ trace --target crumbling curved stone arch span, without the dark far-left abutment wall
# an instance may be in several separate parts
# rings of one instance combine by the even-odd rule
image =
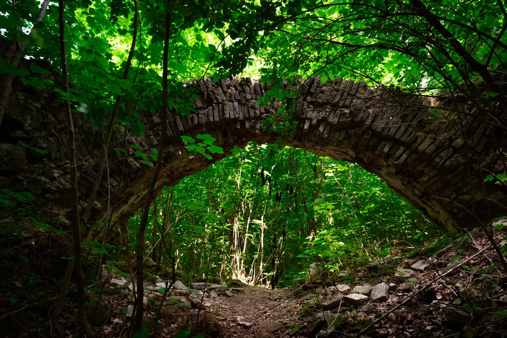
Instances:
[[[180,118],[177,111],[170,114],[169,141],[157,192],[221,158],[192,158],[185,152],[180,135],[211,134],[225,149],[225,156],[234,146],[244,146],[248,141],[270,143],[280,137],[276,132],[263,131],[279,102],[266,107],[255,102],[266,90],[260,82],[242,78],[215,84],[204,79],[195,86],[199,92],[199,100],[194,100],[195,114],[189,118]],[[318,77],[298,89],[297,108],[290,112],[298,123],[297,130],[294,137],[282,137],[285,145],[357,163],[451,233],[478,225],[464,209],[472,205],[472,195],[482,221],[502,212],[498,205],[490,205],[490,215],[486,202],[493,198],[505,205],[507,192],[498,185],[484,186],[477,170],[478,161],[498,169],[499,159],[481,120],[468,121],[470,140],[465,141],[452,121],[431,119],[430,100],[417,95],[341,79],[322,84]],[[160,117],[144,114],[141,118],[148,132],[129,141],[149,151],[157,145]],[[476,155],[468,158],[467,165],[466,154],[472,151]],[[119,159],[121,154],[117,156]],[[117,188],[123,192],[113,215],[115,223],[126,223],[133,210],[142,205],[151,171],[151,167],[129,159],[126,172],[130,183]]]

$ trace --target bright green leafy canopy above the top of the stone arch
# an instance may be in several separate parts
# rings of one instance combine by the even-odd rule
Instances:
[[[55,4],[49,5],[37,30],[17,33],[18,26],[33,26],[39,6],[22,2],[14,13],[12,2],[3,1],[0,12],[8,15],[1,17],[2,28],[7,30],[5,36],[26,41],[26,55],[58,68]],[[291,82],[315,75],[323,82],[338,76],[423,92],[483,82],[490,97],[501,93],[494,84],[499,76],[494,71],[507,55],[506,12],[501,2],[143,1],[138,4],[131,69],[122,79],[134,30],[133,3],[73,1],[67,4],[65,16],[69,79],[76,86],[70,89],[70,98],[82,104],[83,114],[98,127],[107,124],[116,95],[123,95],[124,103],[117,123],[131,127],[134,134],[140,135],[144,128],[132,106],[152,114],[160,109],[168,12],[169,107],[184,115],[194,108],[190,100],[178,98],[182,85],[203,76],[215,80],[262,76],[276,89],[271,95],[280,99],[286,97],[280,79]],[[0,60],[2,71],[27,84],[52,84],[37,78],[47,72],[38,65],[30,71],[14,68]],[[474,85],[464,95],[477,90]]]

